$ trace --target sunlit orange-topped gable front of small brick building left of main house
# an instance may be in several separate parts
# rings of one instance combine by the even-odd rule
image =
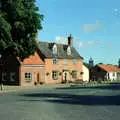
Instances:
[[[26,81],[25,80],[25,73],[30,72],[32,73],[32,80]],[[35,52],[34,55],[31,55],[29,58],[26,58],[20,66],[20,85],[21,86],[33,86],[35,82],[40,84],[44,82],[45,75],[44,75],[44,61],[39,56],[38,52]],[[37,75],[39,74],[39,80],[37,80]]]

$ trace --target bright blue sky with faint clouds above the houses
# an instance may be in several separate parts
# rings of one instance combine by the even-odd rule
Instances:
[[[39,40],[66,42],[88,62],[118,64],[120,58],[120,0],[37,0],[44,15]]]

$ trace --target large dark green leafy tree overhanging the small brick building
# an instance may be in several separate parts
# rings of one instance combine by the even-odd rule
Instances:
[[[37,49],[36,33],[42,29],[43,15],[36,0],[0,0],[0,48],[24,60]]]

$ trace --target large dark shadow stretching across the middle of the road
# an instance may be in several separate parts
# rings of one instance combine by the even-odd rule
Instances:
[[[57,104],[72,105],[120,105],[120,95],[114,96],[97,96],[97,95],[72,95],[59,93],[34,93],[24,94],[28,97],[22,101],[29,102],[49,102]],[[42,99],[41,99],[42,98]]]

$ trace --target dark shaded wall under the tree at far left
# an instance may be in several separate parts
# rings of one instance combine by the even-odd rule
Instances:
[[[0,66],[0,82],[5,85],[19,85],[19,66],[20,63],[15,56],[4,56]],[[6,74],[4,77],[5,81],[2,80],[3,73]],[[11,73],[14,73],[14,81],[11,81]]]

